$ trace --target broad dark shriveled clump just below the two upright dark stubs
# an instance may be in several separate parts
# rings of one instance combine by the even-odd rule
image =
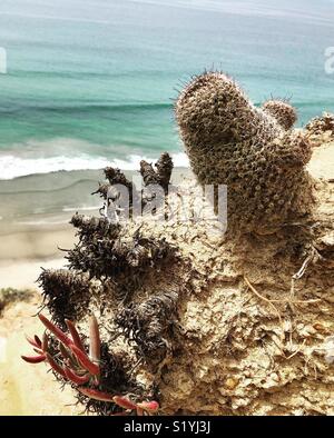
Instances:
[[[105,221],[105,218],[99,220]],[[129,299],[151,271],[177,259],[176,247],[165,239],[143,237],[140,229],[128,238],[121,232],[91,233],[82,221],[76,221],[76,227],[81,238],[66,256],[70,269],[87,272],[89,278],[112,278],[116,295],[122,299]],[[115,231],[115,225],[110,223],[110,227]]]

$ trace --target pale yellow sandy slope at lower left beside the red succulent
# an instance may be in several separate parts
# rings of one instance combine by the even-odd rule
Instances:
[[[38,296],[17,302],[0,319],[0,416],[78,415],[82,410],[72,406],[71,390],[62,391],[45,364],[28,365],[20,359],[31,354],[24,334],[41,332],[33,318],[38,305]]]

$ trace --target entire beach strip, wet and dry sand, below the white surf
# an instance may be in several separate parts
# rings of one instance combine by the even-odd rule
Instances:
[[[127,178],[138,172],[125,171]],[[175,168],[177,185],[191,176]],[[37,278],[45,268],[61,268],[65,251],[77,241],[69,225],[76,211],[99,216],[102,199],[90,196],[104,180],[102,170],[60,171],[0,181],[0,288],[38,289]]]

